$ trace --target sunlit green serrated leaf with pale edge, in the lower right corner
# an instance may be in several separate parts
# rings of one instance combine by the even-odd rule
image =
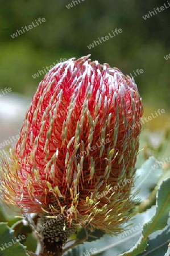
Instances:
[[[119,256],[136,256],[140,253],[143,253],[148,245],[148,236],[150,236],[157,230],[164,229],[165,226],[167,226],[170,210],[169,187],[170,178],[164,180],[163,183],[160,185],[156,195],[156,213],[151,218],[151,221],[144,224],[142,235],[140,236],[138,242],[130,250],[126,251],[123,254],[120,254]]]

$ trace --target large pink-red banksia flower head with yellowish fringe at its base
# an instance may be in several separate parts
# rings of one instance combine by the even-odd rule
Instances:
[[[67,212],[69,228],[117,233],[132,208],[141,98],[134,79],[88,58],[59,63],[40,82],[16,150],[3,156],[1,186],[23,213]]]

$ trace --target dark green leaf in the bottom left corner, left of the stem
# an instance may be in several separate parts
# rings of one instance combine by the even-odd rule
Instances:
[[[0,256],[28,256],[25,247],[14,237],[14,230],[0,223]]]

